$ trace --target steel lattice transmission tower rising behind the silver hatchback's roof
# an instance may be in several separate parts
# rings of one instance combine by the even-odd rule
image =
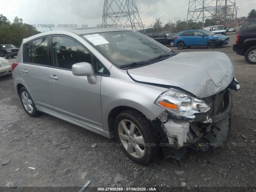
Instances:
[[[105,0],[102,26],[131,28],[145,34],[144,25],[134,0]]]

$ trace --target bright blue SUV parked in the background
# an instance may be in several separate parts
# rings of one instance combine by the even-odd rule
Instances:
[[[222,34],[215,34],[208,30],[186,30],[180,32],[174,40],[174,46],[178,49],[190,48],[192,46],[204,46],[209,49],[217,46],[226,45],[229,42],[229,37]]]

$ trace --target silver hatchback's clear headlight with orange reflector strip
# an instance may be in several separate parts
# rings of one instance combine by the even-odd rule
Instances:
[[[155,104],[176,116],[185,118],[194,118],[193,115],[210,110],[210,107],[204,101],[175,89],[166,91],[156,100]]]

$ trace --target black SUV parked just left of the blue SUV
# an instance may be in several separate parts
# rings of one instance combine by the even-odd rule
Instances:
[[[154,33],[146,33],[146,36],[154,39],[155,41],[163,45],[174,47],[175,35],[172,34],[171,32],[161,31],[161,32],[154,32]]]

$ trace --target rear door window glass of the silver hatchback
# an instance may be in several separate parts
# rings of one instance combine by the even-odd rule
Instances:
[[[47,65],[48,37],[24,44],[25,63]]]

